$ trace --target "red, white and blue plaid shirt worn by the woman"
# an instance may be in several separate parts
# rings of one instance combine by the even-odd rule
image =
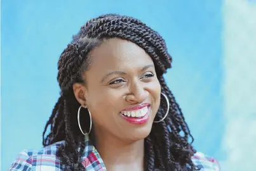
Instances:
[[[65,165],[60,162],[60,158],[56,155],[58,148],[64,144],[60,141],[39,151],[22,151],[17,160],[13,162],[9,171],[60,171],[64,170]],[[85,137],[86,148],[82,157],[82,164],[88,171],[104,171],[107,170],[102,158],[95,147],[91,144],[88,136]],[[201,168],[201,171],[220,171],[217,160],[196,153],[192,157],[192,162]]]

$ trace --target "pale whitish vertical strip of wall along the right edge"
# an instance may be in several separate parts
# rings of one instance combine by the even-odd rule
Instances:
[[[224,130],[226,171],[255,171],[256,3],[224,0]]]

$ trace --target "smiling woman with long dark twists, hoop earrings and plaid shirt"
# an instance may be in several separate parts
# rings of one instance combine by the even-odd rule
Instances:
[[[22,151],[10,170],[220,170],[188,141],[163,78],[171,62],[163,38],[140,20],[88,21],[58,61],[61,96],[44,148]]]

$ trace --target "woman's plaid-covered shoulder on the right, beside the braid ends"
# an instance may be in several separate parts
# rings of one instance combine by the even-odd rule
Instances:
[[[215,158],[207,156],[201,152],[196,152],[196,154],[192,156],[192,162],[194,165],[198,166],[198,168],[201,168],[200,171],[221,171],[220,164]]]

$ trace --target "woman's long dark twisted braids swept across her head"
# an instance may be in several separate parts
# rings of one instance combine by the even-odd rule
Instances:
[[[58,61],[58,83],[61,96],[58,99],[50,119],[43,132],[43,145],[48,146],[58,141],[65,141],[60,148],[60,156],[67,170],[85,170],[81,165],[84,150],[84,136],[77,124],[77,102],[72,85],[75,82],[86,84],[81,75],[90,65],[90,51],[103,41],[118,37],[134,42],[151,56],[156,67],[156,75],[161,84],[161,92],[168,96],[170,111],[158,124],[153,124],[151,133],[145,139],[145,170],[195,170],[191,156],[196,153],[192,147],[194,141],[185,122],[182,111],[172,92],[166,85],[163,73],[171,68],[172,56],[168,54],[164,39],[140,20],[130,16],[116,14],[101,15],[88,21],[72,42],[64,49]],[[165,98],[161,98],[156,120],[165,115]],[[83,111],[88,113],[88,110]],[[88,130],[90,119],[81,115],[81,127]],[[51,132],[44,137],[51,125]],[[181,134],[182,133],[182,134]],[[189,143],[189,138],[192,142]]]

